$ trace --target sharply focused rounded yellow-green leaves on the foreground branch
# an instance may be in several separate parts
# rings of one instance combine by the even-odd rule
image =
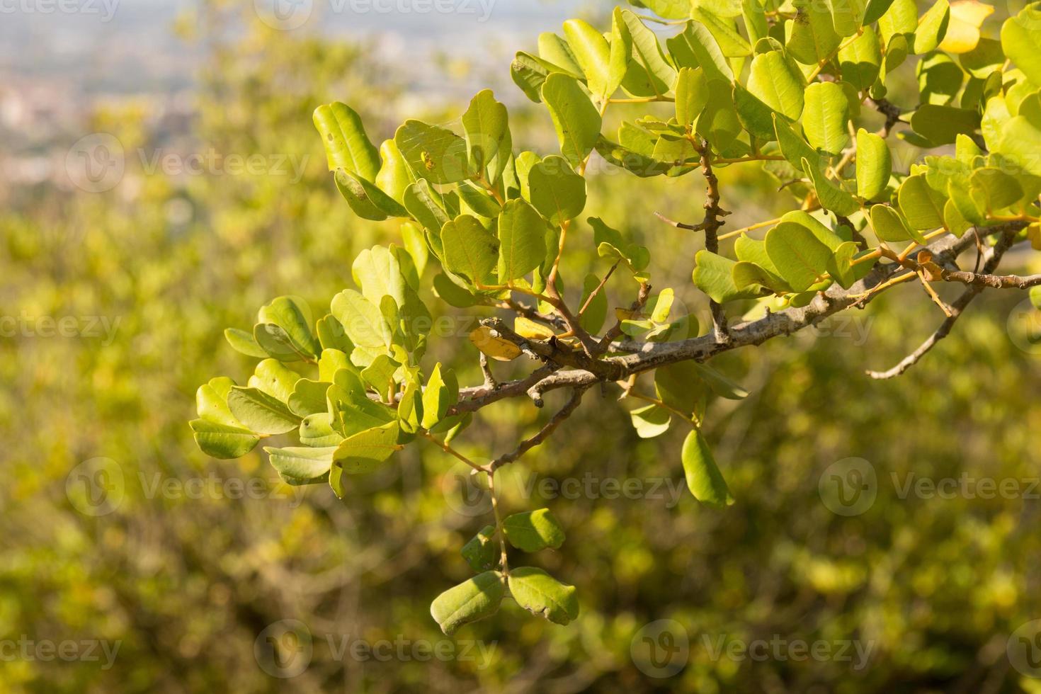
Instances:
[[[265,448],[272,465],[289,484],[328,481],[342,496],[345,475],[372,471],[427,438],[486,474],[493,491],[498,467],[543,437],[489,464],[451,447],[480,399],[507,389],[486,364],[484,386],[469,389],[439,363],[424,369],[432,314],[420,293],[436,264],[433,290],[450,306],[515,313],[512,330],[484,325],[471,335],[486,357],[527,354],[545,376],[567,366],[621,381],[626,396],[650,403],[632,412],[640,436],[660,435],[674,416],[691,426],[682,460],[693,495],[714,507],[733,503],[701,422],[712,396],[742,397],[740,386],[679,351],[643,367],[610,361],[612,346],[639,355],[641,345],[699,332],[690,316],[670,319],[671,289],[650,295],[648,250],[588,217],[603,267],[583,278],[577,304],[564,298],[561,258],[579,235],[594,152],[637,177],[705,177],[705,220],[674,224],[705,233],[692,280],[710,300],[718,343],[729,339],[720,306],[729,302],[802,307],[833,285],[849,289],[880,259],[912,265],[907,278],[938,280],[942,268],[928,256],[920,265],[909,257],[941,235],[1012,221],[1041,243],[1041,24],[1033,7],[1006,21],[997,40],[984,35],[990,10],[975,0],[939,0],[921,16],[914,0],[638,4],[663,19],[617,8],[604,33],[568,20],[563,36],[539,37],[538,55],[516,55],[513,79],[544,104],[559,154],[515,153],[507,109],[490,91],[471,101],[462,134],[409,120],[379,148],[350,106],[314,111],[336,187],[361,219],[403,220],[403,247],[363,251],[352,267],[357,289],[337,294],[316,322],[304,302],[282,297],[261,308],[252,332],[229,329],[231,345],[261,361],[246,386],[220,378],[199,389],[192,426],[204,452],[235,458],[260,438],[296,432],[301,445]],[[645,21],[677,31],[663,46]],[[887,97],[911,56],[920,56],[918,104],[908,118]],[[608,107],[634,103],[649,112],[604,134]],[[878,132],[858,127],[869,110],[885,117]],[[946,153],[900,171],[894,163],[905,150],[888,143],[897,125],[910,126],[898,132],[909,145]],[[714,171],[745,163],[776,176],[797,209],[756,225],[769,227],[763,238],[753,228],[726,235],[737,236],[731,258],[718,248],[728,212]],[[911,246],[899,254],[888,246],[902,241]],[[616,325],[605,330],[603,289],[617,267],[632,278],[635,301],[617,307]],[[316,367],[316,378],[298,371],[300,363]],[[652,370],[655,393],[641,394],[637,377]],[[583,390],[576,384],[575,397]],[[552,621],[574,619],[572,587],[507,565],[507,541],[530,551],[562,540],[547,510],[500,520],[497,509],[494,525],[464,548],[481,572],[435,600],[434,618],[454,631],[494,612],[508,591]]]

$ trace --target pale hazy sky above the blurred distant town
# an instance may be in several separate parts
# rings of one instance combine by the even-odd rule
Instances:
[[[611,0],[243,0],[283,30],[378,37],[397,66],[429,68],[438,51],[502,60],[534,49],[581,7]],[[194,0],[0,0],[0,75],[61,76],[87,92],[168,91],[191,81],[191,53],[171,33]],[[276,12],[275,10],[279,11]],[[297,26],[303,22],[301,26]]]

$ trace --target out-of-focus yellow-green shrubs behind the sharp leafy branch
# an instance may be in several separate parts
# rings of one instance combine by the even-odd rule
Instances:
[[[738,499],[723,512],[670,492],[683,491],[684,432],[641,440],[626,405],[587,396],[550,443],[509,468],[504,496],[508,511],[548,506],[567,530],[564,546],[537,561],[579,587],[582,614],[568,627],[514,606],[453,640],[437,629],[430,601],[468,575],[458,550],[486,518],[469,512],[461,472],[433,446],[410,446],[344,503],[325,486],[280,485],[258,452],[230,463],[201,454],[186,425],[196,387],[252,369],[222,330],[252,325],[279,294],[323,310],[349,285],[359,250],[399,240],[396,224],[361,222],[339,198],[313,107],[351,103],[376,139],[406,117],[451,124],[465,106],[415,112],[400,66],[375,62],[364,46],[255,22],[230,30],[229,21],[239,26],[230,7],[206,5],[181,27],[205,47],[206,68],[191,136],[177,145],[306,161],[299,180],[271,171],[170,176],[127,156],[109,191],[41,186],[8,195],[0,209],[3,313],[113,326],[100,337],[0,339],[0,641],[119,642],[110,668],[103,657],[5,650],[0,691],[1041,691],[1006,656],[1009,635],[1041,617],[1041,489],[1030,484],[1039,475],[1041,369],[1007,331],[1020,294],[979,301],[893,381],[863,370],[890,366],[940,320],[914,287],[849,323],[728,355],[722,366],[753,394],[710,410],[707,434]],[[508,79],[497,87],[513,88]],[[543,113],[522,107],[511,121],[517,148],[552,146]],[[84,132],[111,133],[128,153],[169,146],[148,107],[133,103],[98,110]],[[656,286],[675,287],[705,323],[689,276],[700,241],[653,215],[695,214],[701,181],[615,173],[592,186],[587,213],[650,247]],[[728,172],[729,228],[783,211],[775,186]],[[568,258],[565,275],[603,272],[587,228],[576,241],[587,250]],[[611,291],[612,305],[631,301]],[[464,330],[432,350],[463,384],[480,382]],[[510,449],[555,404],[497,404],[459,446],[477,459]],[[115,461],[121,484],[108,482],[122,493],[95,515],[70,473],[99,457]],[[818,483],[848,457],[873,465],[878,494],[845,517],[822,503]],[[963,473],[1019,481],[1034,497],[898,493],[909,474]],[[581,491],[565,498],[537,484],[544,480],[578,481],[565,489]],[[638,481],[645,493],[625,498],[605,486],[611,480]],[[233,498],[236,485],[254,486]],[[313,638],[306,669],[287,679],[255,650],[283,619]],[[667,678],[648,676],[631,656],[641,627],[661,619],[689,635],[686,665]],[[854,640],[870,659],[855,667],[713,657],[719,638]],[[381,661],[337,652],[344,639],[477,640],[485,650]]]

